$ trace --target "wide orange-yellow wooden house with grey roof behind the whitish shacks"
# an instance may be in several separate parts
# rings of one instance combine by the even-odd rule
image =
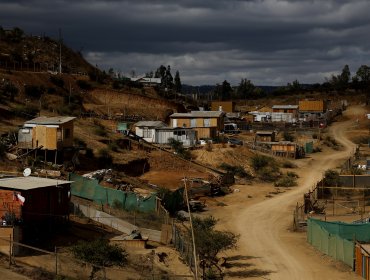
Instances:
[[[174,113],[170,116],[172,127],[190,127],[197,132],[197,137],[215,138],[224,129],[222,111],[191,111],[190,113]]]

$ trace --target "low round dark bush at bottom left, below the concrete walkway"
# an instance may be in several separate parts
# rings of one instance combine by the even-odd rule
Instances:
[[[81,241],[71,249],[75,258],[92,264],[90,279],[102,267],[123,266],[127,261],[127,253],[118,245],[111,245],[105,239],[97,239],[92,242]]]

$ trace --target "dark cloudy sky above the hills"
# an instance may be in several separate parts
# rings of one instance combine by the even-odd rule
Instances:
[[[370,64],[366,0],[0,0],[0,25],[58,38],[99,68],[161,64],[182,83],[322,83]]]

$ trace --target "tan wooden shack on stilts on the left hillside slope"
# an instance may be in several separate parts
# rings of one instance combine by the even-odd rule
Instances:
[[[73,146],[75,117],[38,117],[26,121],[18,131],[18,147],[62,150]]]

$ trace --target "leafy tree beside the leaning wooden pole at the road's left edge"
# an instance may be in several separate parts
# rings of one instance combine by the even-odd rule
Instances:
[[[210,216],[204,219],[194,217],[193,229],[195,236],[196,252],[203,268],[203,279],[206,275],[213,272],[213,268],[218,267],[218,254],[229,249],[236,248],[239,236],[229,231],[215,230],[217,220]],[[189,236],[190,236],[189,230]]]

